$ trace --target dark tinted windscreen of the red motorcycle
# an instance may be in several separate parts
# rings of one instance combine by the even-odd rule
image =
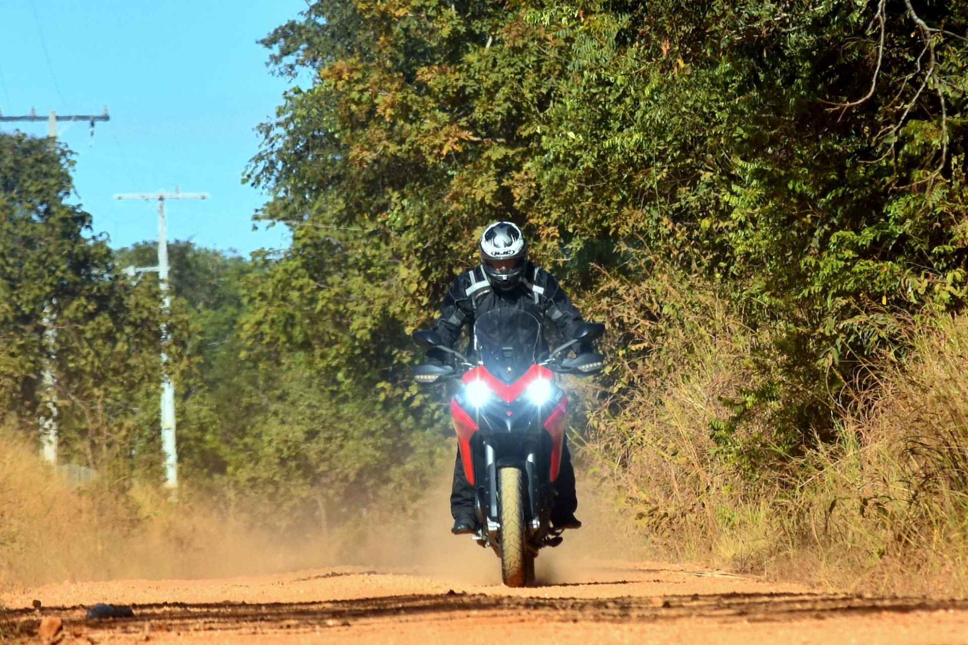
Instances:
[[[521,309],[493,309],[474,323],[481,364],[507,385],[534,365],[540,337],[541,323]]]

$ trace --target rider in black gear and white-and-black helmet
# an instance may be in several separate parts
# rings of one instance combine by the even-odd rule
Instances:
[[[562,337],[573,337],[582,323],[582,314],[572,306],[557,279],[529,262],[528,243],[516,224],[510,221],[490,224],[484,229],[479,246],[481,264],[458,276],[440,305],[434,330],[445,345],[453,348],[465,325],[473,328],[478,317],[496,308],[523,309],[542,322],[550,320]],[[590,347],[579,345],[579,354],[587,351],[591,351]],[[446,353],[439,348],[431,349],[428,357],[441,365],[447,360]],[[562,447],[559,476],[553,485],[558,495],[552,509],[552,525],[559,529],[581,527],[582,523],[575,517],[578,508],[575,470],[566,442]],[[452,533],[476,531],[474,498],[458,451],[450,494]]]

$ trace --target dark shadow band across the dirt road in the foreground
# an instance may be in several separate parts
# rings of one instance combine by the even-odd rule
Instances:
[[[610,582],[622,584],[627,581]],[[561,587],[577,584],[554,585]],[[653,598],[521,598],[483,594],[407,595],[328,602],[218,602],[132,605],[135,618],[85,620],[86,607],[45,607],[43,615],[62,617],[88,630],[137,632],[152,630],[237,630],[331,628],[357,621],[420,620],[429,614],[451,616],[469,612],[521,615],[590,622],[658,622],[691,618],[722,621],[792,621],[848,614],[908,613],[966,610],[968,601],[918,598],[865,598],[835,594],[771,593],[663,596]],[[21,636],[36,634],[43,616],[28,609],[8,612]]]

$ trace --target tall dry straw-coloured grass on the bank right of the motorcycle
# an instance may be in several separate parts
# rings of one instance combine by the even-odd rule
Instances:
[[[968,317],[912,325],[903,363],[871,366],[878,385],[849,403],[841,393],[832,436],[780,458],[769,404],[738,426],[739,450],[714,440],[735,412],[724,401],[762,378],[750,357],[768,332],[671,275],[611,293],[600,307],[627,335],[582,452],[657,555],[839,589],[968,594]]]

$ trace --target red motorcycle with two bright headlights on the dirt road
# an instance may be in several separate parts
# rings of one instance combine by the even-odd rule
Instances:
[[[562,542],[562,530],[551,525],[552,484],[559,475],[568,397],[555,374],[600,371],[600,354],[560,355],[604,331],[601,323],[582,323],[573,338],[539,356],[544,343],[538,320],[527,311],[499,308],[474,324],[476,361],[445,346],[434,331],[413,333],[421,344],[457,359],[457,368],[426,364],[413,375],[422,384],[456,378],[464,383],[450,411],[464,473],[476,490],[480,528],[472,537],[494,549],[508,587],[534,584],[538,551]]]

